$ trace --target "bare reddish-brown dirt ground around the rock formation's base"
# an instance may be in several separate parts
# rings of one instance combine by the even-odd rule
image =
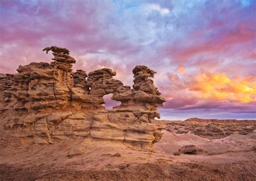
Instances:
[[[166,123],[167,121],[165,121]],[[167,122],[167,130],[153,150],[140,151],[119,142],[67,138],[39,145],[21,128],[0,133],[0,180],[254,180],[256,133],[214,135],[176,134],[175,126],[193,130],[194,122]],[[210,124],[221,130],[230,123]],[[255,128],[255,123],[232,123],[234,129]],[[173,127],[174,127],[173,126]],[[174,128],[175,128],[174,127]],[[180,128],[182,127],[182,128]],[[232,128],[233,129],[233,128]],[[175,130],[175,129],[173,129]],[[178,131],[178,130],[176,130]],[[15,133],[15,134],[14,134]],[[215,132],[214,132],[215,133]],[[220,137],[214,139],[214,137]],[[183,145],[199,145],[203,155],[173,155]],[[129,147],[129,146],[128,146]],[[69,156],[70,155],[70,156]]]

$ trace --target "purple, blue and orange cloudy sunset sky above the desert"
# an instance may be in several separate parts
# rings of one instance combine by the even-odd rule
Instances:
[[[256,0],[0,0],[0,22],[1,73],[56,45],[74,71],[112,68],[125,85],[136,65],[156,71],[161,119],[256,119]]]

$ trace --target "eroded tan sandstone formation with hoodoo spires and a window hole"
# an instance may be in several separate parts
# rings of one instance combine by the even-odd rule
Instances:
[[[138,65],[133,89],[113,79],[116,72],[103,68],[88,74],[72,72],[76,62],[69,50],[57,46],[51,64],[32,62],[16,74],[0,74],[0,114],[4,129],[22,128],[37,143],[54,143],[67,136],[110,140],[151,148],[162,136],[157,107],[165,99],[154,86],[156,72]],[[106,110],[103,96],[113,94],[119,106]]]

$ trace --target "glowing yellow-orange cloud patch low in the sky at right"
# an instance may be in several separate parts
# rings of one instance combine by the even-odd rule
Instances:
[[[201,99],[234,101],[240,103],[256,101],[256,81],[254,78],[233,78],[226,74],[199,74],[188,89]]]

